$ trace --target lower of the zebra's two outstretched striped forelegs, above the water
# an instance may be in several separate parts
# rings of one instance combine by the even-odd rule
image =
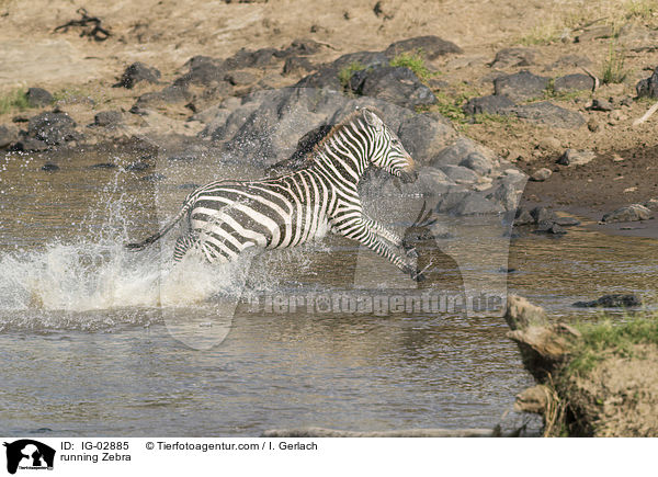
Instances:
[[[421,273],[418,273],[416,263],[411,257],[400,255],[383,237],[375,231],[371,219],[358,218],[345,224],[334,226],[337,232],[343,237],[356,240],[364,245],[379,257],[385,258],[390,263],[396,265],[402,272],[411,276],[416,281],[424,279]]]

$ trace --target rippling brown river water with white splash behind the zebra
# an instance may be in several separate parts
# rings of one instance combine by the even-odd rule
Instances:
[[[61,170],[41,171],[46,159]],[[509,279],[512,291],[569,318],[577,299],[656,289],[655,241],[586,230],[513,241],[518,271],[508,277],[500,219],[443,217],[443,253],[421,253],[439,268],[420,288],[336,237],[227,266],[191,259],[174,268],[175,232],[143,252],[122,243],[173,215],[189,184],[258,172],[205,157],[125,170],[134,160],[93,151],[0,159],[0,434],[491,428],[532,384],[496,313],[327,311],[311,297],[354,287],[371,297],[461,296],[462,279],[492,292]],[[109,161],[120,167],[90,169]],[[155,171],[166,179],[143,180]],[[418,208],[368,205],[393,226]],[[522,421],[511,416],[506,422]]]

